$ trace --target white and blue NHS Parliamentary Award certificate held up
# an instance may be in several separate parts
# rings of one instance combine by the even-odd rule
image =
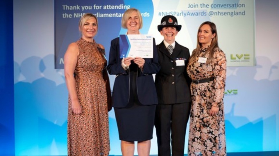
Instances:
[[[153,58],[151,35],[119,35],[119,56]]]

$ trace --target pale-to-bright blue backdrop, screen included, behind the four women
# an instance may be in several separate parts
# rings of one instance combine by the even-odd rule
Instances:
[[[157,30],[162,16],[174,14],[182,25],[176,41],[190,51],[196,47],[198,26],[216,23],[219,46],[230,64],[225,91],[227,151],[279,151],[278,6],[276,0],[14,0],[15,115],[14,129],[8,131],[14,133],[15,146],[8,150],[22,156],[67,155],[63,55],[67,45],[81,37],[79,17],[96,14],[95,39],[108,56],[110,41],[126,33],[119,14],[134,7],[143,15],[141,34],[152,35],[157,44],[163,40]],[[112,14],[115,17],[105,17]],[[114,77],[110,75],[111,87]],[[110,155],[121,155],[113,109],[109,126]],[[157,154],[156,142],[154,130],[151,154]]]

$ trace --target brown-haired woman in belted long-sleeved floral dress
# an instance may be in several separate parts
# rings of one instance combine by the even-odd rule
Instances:
[[[204,22],[187,73],[192,79],[188,155],[226,156],[224,90],[226,56],[218,47],[216,25]]]

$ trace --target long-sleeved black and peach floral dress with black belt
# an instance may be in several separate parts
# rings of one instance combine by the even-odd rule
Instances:
[[[188,64],[187,73],[194,80],[214,77],[213,81],[191,83],[192,108],[190,114],[188,155],[226,156],[224,90],[226,83],[226,55],[219,48],[214,49],[210,64],[199,63],[199,57],[205,56],[201,50],[197,58]],[[210,116],[212,106],[219,107],[216,116]]]

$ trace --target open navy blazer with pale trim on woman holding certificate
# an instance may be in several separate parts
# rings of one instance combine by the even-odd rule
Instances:
[[[108,61],[108,73],[116,75],[112,90],[112,106],[117,108],[126,107],[129,102],[130,79],[129,69],[124,70],[121,66],[119,56],[119,37],[111,41],[110,56]],[[137,96],[142,105],[158,104],[153,75],[160,70],[158,53],[153,38],[153,58],[144,58],[143,71],[138,68],[137,75]]]

